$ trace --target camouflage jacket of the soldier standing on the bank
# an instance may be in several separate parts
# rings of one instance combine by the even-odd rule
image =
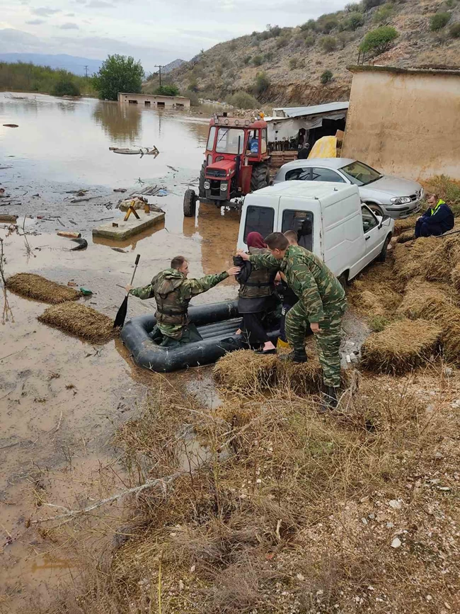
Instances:
[[[255,268],[274,267],[284,273],[289,288],[304,304],[309,322],[321,322],[328,306],[345,302],[339,280],[318,256],[303,247],[290,245],[282,260],[268,254],[250,256],[249,261]]]

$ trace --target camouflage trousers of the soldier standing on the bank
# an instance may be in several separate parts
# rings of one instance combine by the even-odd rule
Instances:
[[[315,334],[325,386],[340,386],[340,329],[346,308],[345,298],[335,305],[328,305],[328,309],[324,310],[324,319],[319,323],[321,330]],[[309,326],[304,305],[299,301],[287,312],[285,323],[287,341],[294,349],[304,348],[306,331]]]

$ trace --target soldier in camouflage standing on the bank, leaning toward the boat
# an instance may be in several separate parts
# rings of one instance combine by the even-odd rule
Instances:
[[[246,256],[251,264],[277,266],[284,273],[289,287],[299,302],[286,316],[287,341],[293,346],[294,362],[306,362],[306,327],[314,332],[318,356],[323,368],[323,409],[337,407],[337,389],[340,387],[340,328],[347,307],[345,292],[335,275],[317,256],[299,246],[290,246],[281,232],[273,232],[265,239],[271,254]]]

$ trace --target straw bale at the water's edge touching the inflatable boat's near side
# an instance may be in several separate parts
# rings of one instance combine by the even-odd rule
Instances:
[[[237,350],[219,358],[212,373],[224,390],[254,395],[275,385],[276,369],[275,354]]]

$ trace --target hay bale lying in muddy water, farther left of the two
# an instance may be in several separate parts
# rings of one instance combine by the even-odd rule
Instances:
[[[49,302],[52,305],[81,297],[81,292],[77,292],[74,288],[50,281],[41,275],[35,275],[35,273],[11,275],[6,280],[6,288],[21,296]]]

